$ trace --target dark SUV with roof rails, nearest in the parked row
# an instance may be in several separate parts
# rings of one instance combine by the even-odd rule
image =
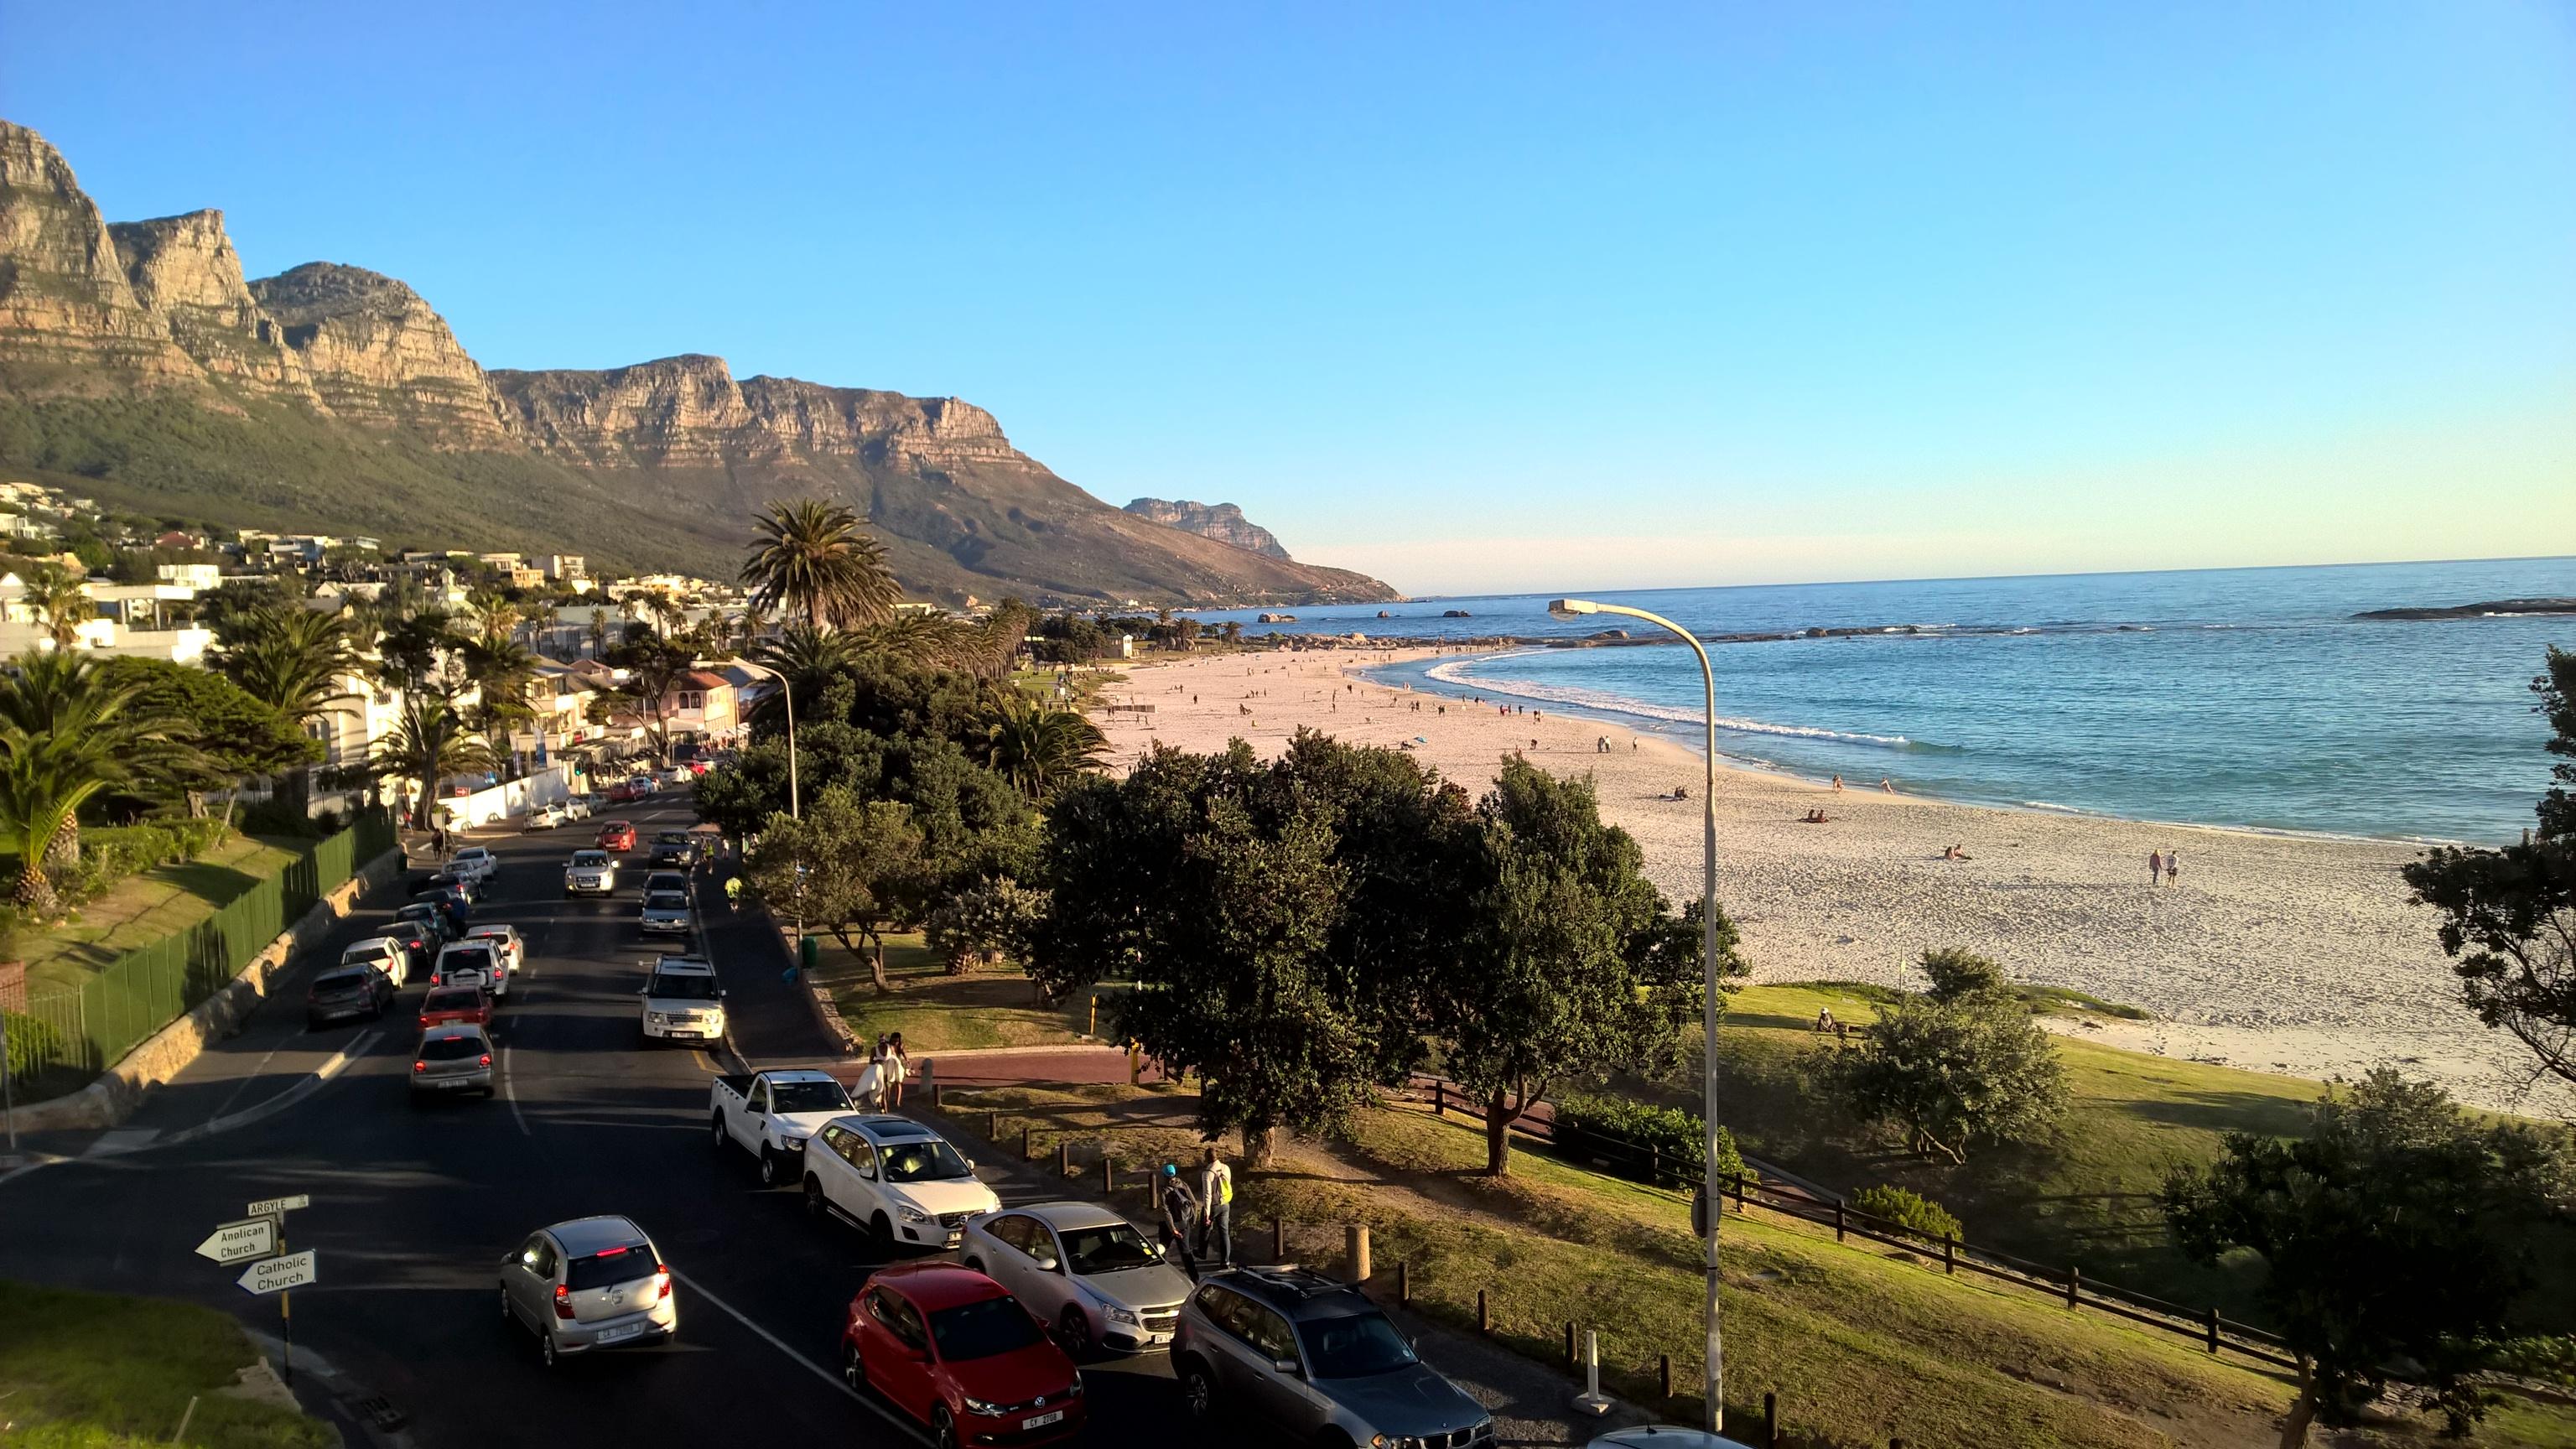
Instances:
[[[1494,1418],[1378,1305],[1309,1269],[1211,1274],[1180,1307],[1172,1372],[1206,1423],[1260,1418],[1298,1444],[1494,1446]]]

